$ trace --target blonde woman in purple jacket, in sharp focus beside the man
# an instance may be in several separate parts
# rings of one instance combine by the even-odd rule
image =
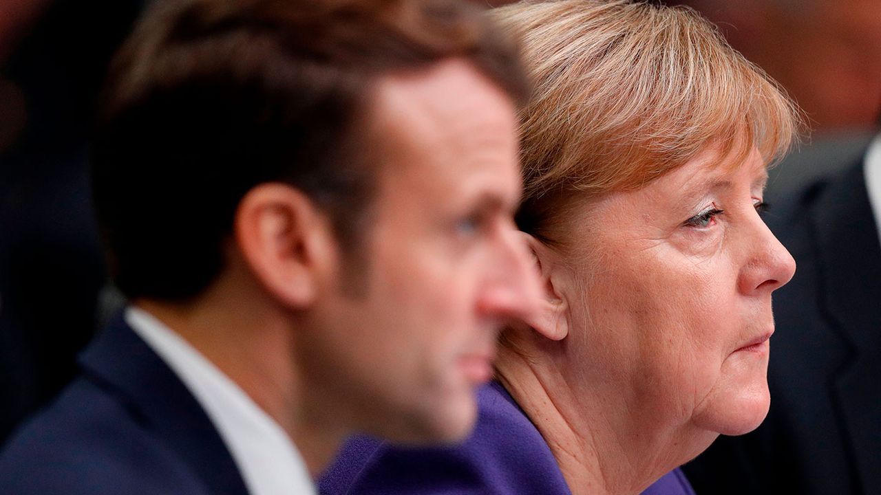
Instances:
[[[507,329],[463,445],[352,440],[325,493],[692,493],[677,469],[768,408],[771,294],[795,262],[759,213],[798,123],[685,8],[493,11],[536,86],[521,115],[540,317]]]

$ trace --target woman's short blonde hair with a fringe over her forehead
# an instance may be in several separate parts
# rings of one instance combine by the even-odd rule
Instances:
[[[521,40],[534,84],[520,129],[529,233],[561,198],[641,188],[711,143],[770,163],[801,127],[780,86],[691,8],[526,1],[491,15]]]

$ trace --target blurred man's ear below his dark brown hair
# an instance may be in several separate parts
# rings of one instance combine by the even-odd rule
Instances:
[[[287,307],[307,307],[335,268],[328,219],[296,188],[263,183],[239,202],[235,240],[257,280]]]

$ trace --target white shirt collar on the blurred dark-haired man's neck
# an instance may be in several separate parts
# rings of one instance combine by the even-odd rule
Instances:
[[[251,495],[315,494],[306,463],[290,437],[233,380],[143,309],[126,308],[125,321],[202,405]]]

